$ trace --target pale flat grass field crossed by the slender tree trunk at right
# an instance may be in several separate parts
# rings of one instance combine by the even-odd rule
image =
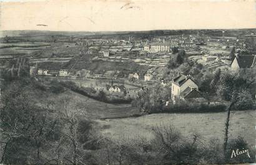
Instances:
[[[232,111],[230,115],[230,138],[242,136],[254,147],[255,145],[255,111]],[[208,143],[212,138],[224,139],[224,124],[227,113],[181,113],[154,114],[138,118],[121,118],[97,120],[102,133],[117,138],[120,134],[126,136],[142,136],[152,139],[152,128],[156,125],[173,125],[184,136],[200,134]],[[107,129],[103,129],[107,128]]]

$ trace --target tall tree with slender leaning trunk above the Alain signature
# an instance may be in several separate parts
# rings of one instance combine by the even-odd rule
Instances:
[[[227,120],[225,123],[224,153],[227,149],[230,111],[234,109],[239,100],[248,97],[249,88],[255,82],[256,72],[252,69],[239,70],[239,72],[222,73],[217,89],[217,95],[229,101],[227,106]]]

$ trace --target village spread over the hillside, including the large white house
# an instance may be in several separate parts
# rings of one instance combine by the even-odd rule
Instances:
[[[210,72],[215,70],[230,70],[236,72],[240,68],[255,68],[255,55],[240,55],[245,52],[247,43],[246,37],[225,36],[225,31],[220,31],[218,37],[213,37],[197,32],[194,35],[166,35],[152,37],[150,39],[137,40],[129,36],[128,39],[77,39],[65,47],[79,47],[79,56],[90,56],[92,63],[109,62],[109,65],[116,65],[132,62],[136,65],[146,67],[147,70],[136,70],[134,72],[122,72],[113,70],[102,70],[97,73],[84,67],[76,69],[74,66],[51,70],[44,67],[44,62],[70,62],[71,57],[47,57],[29,58],[30,75],[38,77],[52,77],[58,80],[79,80],[79,87],[92,88],[97,92],[103,91],[107,95],[120,98],[138,98],[140,92],[160,84],[162,87],[169,87],[172,95],[170,100],[162,100],[166,105],[172,101],[185,98],[204,100],[199,92],[199,85],[195,82],[195,75],[184,75],[182,72],[174,72],[172,77],[164,77],[164,70],[169,65],[175,53],[185,51],[187,59],[202,65]],[[250,34],[254,35],[254,34]],[[66,43],[65,43],[66,44]],[[52,53],[54,54],[54,53]],[[230,54],[234,58],[230,59]],[[80,60],[78,57],[76,60]],[[73,57],[74,58],[74,57]],[[57,62],[56,62],[57,63]],[[76,65],[76,62],[75,64]],[[81,82],[84,80],[84,82]],[[91,80],[91,83],[85,83]],[[97,80],[99,82],[97,83]]]

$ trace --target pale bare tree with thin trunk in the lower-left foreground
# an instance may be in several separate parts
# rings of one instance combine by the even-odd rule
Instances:
[[[91,122],[86,119],[86,110],[78,103],[70,103],[69,97],[62,98],[57,108],[61,116],[64,130],[62,139],[66,153],[62,153],[64,161],[71,164],[84,164],[87,156],[82,148],[91,137]]]

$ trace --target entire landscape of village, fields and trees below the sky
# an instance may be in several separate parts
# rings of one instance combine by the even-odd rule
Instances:
[[[19,154],[24,164],[224,164],[241,162],[230,148],[254,154],[255,29],[34,33],[0,38],[0,126],[22,142],[0,149],[11,153],[5,163]],[[170,148],[185,154],[167,158]]]

